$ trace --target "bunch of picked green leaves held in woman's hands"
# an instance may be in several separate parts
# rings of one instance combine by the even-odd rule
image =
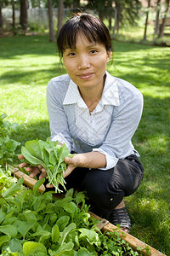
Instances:
[[[21,154],[24,155],[31,166],[41,165],[48,174],[48,183],[53,184],[55,192],[61,192],[59,184],[65,189],[65,179],[63,172],[66,169],[65,156],[72,157],[65,143],[61,146],[58,142],[42,140],[32,140],[25,143],[21,148]]]

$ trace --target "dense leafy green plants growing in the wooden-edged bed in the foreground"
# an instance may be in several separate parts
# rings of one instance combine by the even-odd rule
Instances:
[[[85,194],[22,189],[23,178],[0,197],[0,252],[3,256],[137,256],[114,232],[101,233],[85,204]],[[74,192],[74,193],[73,193]]]

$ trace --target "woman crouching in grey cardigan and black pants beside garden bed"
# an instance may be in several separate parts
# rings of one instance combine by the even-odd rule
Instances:
[[[139,154],[131,143],[143,96],[106,71],[111,37],[97,17],[73,15],[61,28],[57,44],[67,74],[48,83],[47,106],[51,139],[75,153],[65,158],[66,187],[85,189],[95,213],[129,231],[123,197],[132,195],[143,178]],[[31,177],[39,167],[33,172],[27,168]],[[40,178],[46,176],[41,171]]]

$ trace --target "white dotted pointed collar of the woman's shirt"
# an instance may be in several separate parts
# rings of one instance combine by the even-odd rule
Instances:
[[[118,87],[116,79],[111,76],[107,71],[105,72],[105,87],[101,98],[102,105],[119,105]],[[85,102],[82,100],[82,96],[78,90],[77,84],[72,80],[69,83],[68,90],[66,91],[65,100],[63,105],[70,105],[77,103],[79,107],[87,108]]]

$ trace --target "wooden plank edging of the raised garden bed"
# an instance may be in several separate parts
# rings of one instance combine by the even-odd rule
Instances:
[[[20,172],[20,170],[18,168],[13,168],[13,173],[14,173],[14,176],[17,178],[23,177],[24,184],[30,189],[33,189],[35,183],[37,182],[34,178],[31,178],[28,175],[26,175],[25,173]],[[44,192],[45,187],[43,185],[41,185],[38,190],[39,190],[39,192]],[[104,218],[100,218],[99,216],[95,215],[93,212],[89,212],[89,213],[90,213],[91,217],[99,220],[99,224],[97,224],[99,230],[102,230],[103,232],[104,231],[113,232],[115,230],[118,231],[122,240],[127,241],[129,246],[132,247],[134,251],[137,251],[144,256],[146,256],[146,255],[166,256],[165,254],[157,251],[155,248],[150,247],[149,245],[145,244],[143,241],[140,241],[138,238],[127,234],[126,232],[122,231],[121,229],[118,229],[115,225],[111,224],[108,220],[106,220]],[[145,250],[145,248],[147,248],[147,250]],[[150,254],[148,254],[148,251],[150,252]]]

